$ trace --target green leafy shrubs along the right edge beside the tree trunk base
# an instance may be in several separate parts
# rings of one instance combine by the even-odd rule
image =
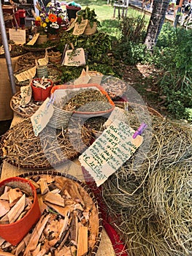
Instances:
[[[153,54],[145,61],[164,71],[159,80],[160,94],[166,96],[166,108],[178,119],[191,121],[192,108],[192,30],[174,29],[164,23]]]

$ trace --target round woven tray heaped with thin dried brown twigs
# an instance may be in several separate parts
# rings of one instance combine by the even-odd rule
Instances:
[[[9,164],[18,167],[56,167],[82,154],[102,129],[101,122],[104,119],[100,121],[99,118],[92,124],[82,125],[75,119],[68,129],[45,127],[36,137],[31,120],[27,118],[1,137],[0,155]]]

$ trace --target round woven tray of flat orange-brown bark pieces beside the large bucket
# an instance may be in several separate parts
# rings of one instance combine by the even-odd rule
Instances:
[[[34,184],[41,217],[18,246],[6,241],[1,250],[10,255],[96,255],[102,219],[91,189],[74,176],[55,171],[21,174]]]

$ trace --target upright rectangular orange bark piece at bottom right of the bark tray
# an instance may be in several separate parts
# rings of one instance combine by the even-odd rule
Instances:
[[[78,230],[77,256],[88,252],[88,227],[80,226]]]

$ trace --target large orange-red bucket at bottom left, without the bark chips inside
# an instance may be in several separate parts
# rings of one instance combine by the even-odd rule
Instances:
[[[24,238],[24,236],[26,236],[31,227],[38,221],[41,212],[39,209],[36,189],[30,181],[20,177],[4,179],[3,181],[0,181],[0,195],[3,194],[6,185],[9,187],[19,187],[20,189],[21,187],[26,186],[34,197],[34,203],[23,218],[10,224],[0,225],[1,238],[4,238],[4,240],[15,246]]]

